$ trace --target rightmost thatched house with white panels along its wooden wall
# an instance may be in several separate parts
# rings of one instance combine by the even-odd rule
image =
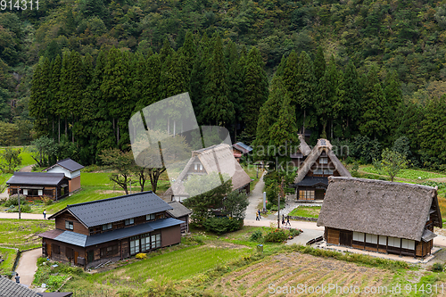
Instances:
[[[318,226],[328,245],[425,257],[442,227],[437,187],[328,177]]]

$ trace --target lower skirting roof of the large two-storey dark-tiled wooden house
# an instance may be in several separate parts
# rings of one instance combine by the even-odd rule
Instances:
[[[108,243],[113,240],[118,240],[122,238],[128,238],[130,236],[140,235],[148,232],[152,232],[153,230],[158,230],[165,227],[172,227],[176,225],[180,225],[184,223],[182,220],[179,219],[158,219],[153,222],[147,222],[145,224],[140,224],[132,227],[125,227],[121,229],[116,229],[108,232],[104,232],[98,235],[83,235],[78,234],[71,231],[61,231],[62,233],[55,237],[48,237],[47,235],[51,231],[47,231],[45,233],[40,234],[39,236],[45,237],[45,238],[52,238],[56,241],[62,242],[62,243],[70,243],[73,245],[86,247],[86,246],[92,246],[99,243]],[[54,230],[52,230],[54,231]]]

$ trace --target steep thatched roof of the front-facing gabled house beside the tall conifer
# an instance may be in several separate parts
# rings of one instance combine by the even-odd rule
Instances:
[[[318,144],[311,150],[311,153],[303,161],[302,166],[297,171],[297,176],[294,178],[294,184],[300,183],[301,180],[307,175],[308,171],[311,169],[313,164],[318,161],[318,157],[322,152],[326,152],[328,159],[335,166],[337,172],[341,177],[351,177],[349,170],[347,170],[341,161],[337,159],[335,153],[332,151],[332,144],[326,139],[318,139]]]

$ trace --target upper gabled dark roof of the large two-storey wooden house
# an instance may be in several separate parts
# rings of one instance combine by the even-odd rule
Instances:
[[[131,219],[147,214],[171,210],[172,207],[152,191],[67,205],[69,210],[86,227],[94,227]],[[59,213],[51,216],[54,219]]]

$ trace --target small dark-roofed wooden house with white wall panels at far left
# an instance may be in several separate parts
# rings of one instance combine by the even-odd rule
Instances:
[[[56,201],[66,197],[68,178],[63,173],[14,172],[6,182],[8,194],[22,194],[27,200],[42,200],[44,196]]]

